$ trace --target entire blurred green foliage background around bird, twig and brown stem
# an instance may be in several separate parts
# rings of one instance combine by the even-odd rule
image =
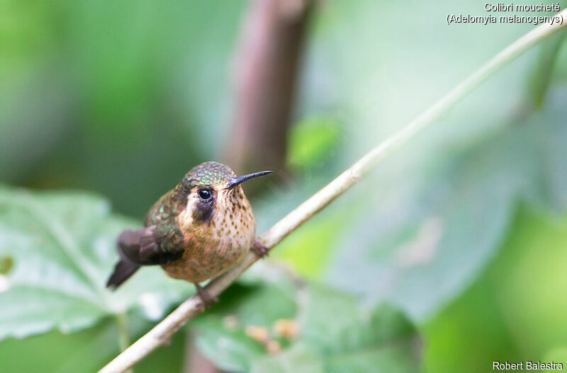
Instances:
[[[0,1],[0,372],[94,372],[191,294],[156,268],[103,285],[121,229],[197,163],[232,166],[233,64],[260,3]],[[251,193],[259,233],[534,28],[447,25],[484,4],[313,6],[285,166]],[[201,355],[228,372],[566,365],[565,39],[492,76],[135,372]]]

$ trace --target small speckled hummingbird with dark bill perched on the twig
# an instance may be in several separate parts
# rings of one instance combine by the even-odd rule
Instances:
[[[167,275],[193,282],[205,306],[217,299],[199,282],[223,274],[252,250],[264,256],[242,183],[272,171],[236,176],[230,167],[204,162],[150,207],[145,227],[123,231],[120,260],[106,286],[116,289],[142,265],[161,265]]]

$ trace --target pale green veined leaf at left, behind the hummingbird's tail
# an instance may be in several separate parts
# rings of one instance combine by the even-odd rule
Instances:
[[[105,287],[116,236],[133,226],[93,195],[0,188],[0,258],[11,263],[0,275],[0,339],[69,333],[133,308],[159,319],[190,287],[159,268],[144,268],[114,293]]]

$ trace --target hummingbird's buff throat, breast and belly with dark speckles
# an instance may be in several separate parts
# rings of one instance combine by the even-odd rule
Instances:
[[[190,282],[217,277],[238,263],[252,247],[256,234],[254,214],[242,188],[219,193],[229,195],[220,198],[223,205],[215,207],[210,222],[194,224],[188,214],[179,214],[185,250],[181,258],[162,266],[169,276]]]

